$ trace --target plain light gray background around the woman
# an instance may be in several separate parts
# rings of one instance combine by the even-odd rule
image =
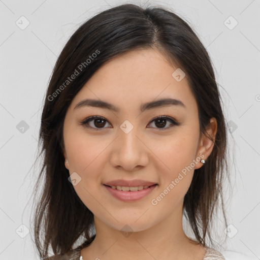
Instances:
[[[57,56],[83,21],[123,3],[139,2],[0,0],[0,259],[39,259],[28,234],[32,187],[39,173],[31,166],[36,158],[43,96]],[[226,193],[231,225],[228,230],[216,229],[228,233],[222,250],[260,259],[260,1],[149,4],[170,6],[185,18],[212,58],[230,125],[230,152],[234,153],[233,196]]]

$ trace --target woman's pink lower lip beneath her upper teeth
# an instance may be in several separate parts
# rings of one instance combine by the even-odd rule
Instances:
[[[113,189],[110,186],[104,185],[106,189],[111,193],[113,197],[120,201],[125,202],[134,202],[141,200],[145,196],[147,196],[149,193],[154,190],[154,188],[157,186],[157,184],[154,184],[146,189],[138,190],[138,191],[123,191],[123,190],[117,190]]]

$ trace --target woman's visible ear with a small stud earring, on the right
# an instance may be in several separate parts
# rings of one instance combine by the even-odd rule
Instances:
[[[213,141],[210,140],[210,138],[208,138],[204,134],[202,134],[201,139],[200,139],[200,144],[199,144],[199,147],[197,150],[197,157],[201,157],[205,161],[211,154],[214,144],[215,144],[215,137],[216,137],[216,133],[217,133],[217,120],[215,117],[212,117],[210,119],[210,123],[207,126],[206,131],[207,131],[208,135],[213,139]],[[204,155],[204,157],[203,157],[203,155]],[[194,169],[199,169],[202,166],[203,166],[203,163],[199,162],[198,164],[196,164]]]

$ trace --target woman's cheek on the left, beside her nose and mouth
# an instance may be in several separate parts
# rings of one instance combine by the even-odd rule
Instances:
[[[108,146],[106,142],[98,142],[98,139],[88,138],[86,135],[74,134],[68,135],[64,139],[69,158],[70,174],[76,172],[81,180],[74,189],[81,201],[91,211],[96,212],[99,208],[98,199],[103,205],[102,198],[96,198],[99,189],[99,183],[102,182],[100,172],[102,172],[102,161],[104,158],[104,149]],[[94,196],[94,197],[93,197]]]

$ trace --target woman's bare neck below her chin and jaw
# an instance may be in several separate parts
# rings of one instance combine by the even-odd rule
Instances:
[[[178,213],[178,214],[177,214]],[[182,208],[144,231],[121,232],[94,217],[96,237],[81,250],[87,259],[202,259],[205,248],[183,232]],[[122,226],[124,226],[122,224]]]

